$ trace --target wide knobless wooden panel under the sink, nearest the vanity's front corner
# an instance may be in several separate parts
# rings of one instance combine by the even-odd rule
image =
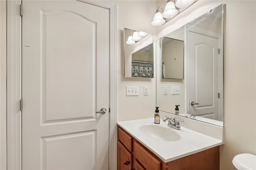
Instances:
[[[160,170],[161,162],[145,148],[143,148],[138,142],[133,143],[133,156],[138,160],[144,168],[147,170]]]

